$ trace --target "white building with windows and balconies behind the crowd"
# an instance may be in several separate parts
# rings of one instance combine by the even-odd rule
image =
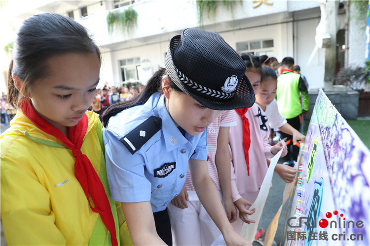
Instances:
[[[13,1],[17,2],[17,1]],[[103,63],[100,87],[107,81],[111,86],[140,82],[160,66],[164,66],[168,41],[186,28],[199,27],[199,10],[195,0],[102,0],[102,1],[27,1],[18,6],[8,21],[14,30],[21,21],[33,14],[55,12],[69,16],[85,26],[101,47]],[[358,25],[348,22],[346,2],[338,2],[338,27],[335,39],[335,61],[326,61],[325,48],[315,41],[322,11],[320,1],[257,0],[234,1],[227,8],[216,2],[214,12],[203,13],[202,28],[222,35],[236,51],[268,55],[281,61],[286,56],[295,58],[301,73],[309,82],[310,90],[324,88],[325,62],[335,67],[360,65],[365,53],[365,34],[353,30]],[[15,7],[12,1],[3,9]],[[110,32],[107,15],[131,8],[137,13],[136,25],[123,30],[113,26]],[[366,26],[366,23],[364,23]],[[364,40],[362,40],[364,39]],[[350,42],[350,43],[349,43]],[[363,47],[362,47],[363,46]],[[348,49],[348,47],[354,47]],[[353,50],[353,54],[350,53]],[[5,77],[7,67],[2,66]],[[2,78],[0,78],[2,79]],[[6,79],[4,79],[6,81]],[[0,81],[1,83],[1,81]]]

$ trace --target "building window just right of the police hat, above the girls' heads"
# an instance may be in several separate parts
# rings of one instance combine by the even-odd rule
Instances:
[[[239,53],[248,53],[255,56],[273,56],[274,51],[274,40],[255,40],[255,41],[245,41],[236,43],[236,51]]]

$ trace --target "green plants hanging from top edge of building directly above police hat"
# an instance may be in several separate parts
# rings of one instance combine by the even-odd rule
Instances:
[[[207,11],[208,18],[216,20],[216,9],[221,4],[224,8],[231,12],[233,25],[234,25],[234,9],[236,2],[240,0],[196,0],[198,10],[198,24],[199,28],[203,28],[204,12]]]

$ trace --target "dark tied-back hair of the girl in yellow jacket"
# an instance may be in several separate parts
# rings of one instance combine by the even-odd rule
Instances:
[[[14,41],[13,60],[8,72],[9,102],[19,107],[22,94],[15,87],[12,74],[23,83],[22,92],[29,92],[35,80],[47,76],[47,60],[67,53],[96,53],[101,65],[98,46],[87,30],[71,18],[54,13],[42,13],[26,19]]]

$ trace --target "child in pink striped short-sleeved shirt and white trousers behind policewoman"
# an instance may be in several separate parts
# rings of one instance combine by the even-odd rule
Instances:
[[[231,197],[229,128],[236,124],[234,110],[222,114],[207,127],[208,172],[219,192],[229,222],[236,220],[236,207]],[[174,245],[211,245],[221,235],[204,209],[191,182],[187,168],[185,185],[168,205]]]

